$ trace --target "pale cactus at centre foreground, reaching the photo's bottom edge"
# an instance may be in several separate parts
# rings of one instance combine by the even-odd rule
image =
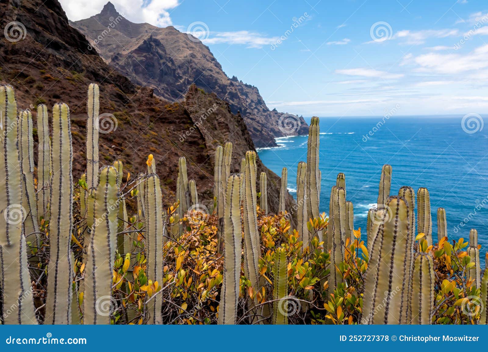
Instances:
[[[232,175],[227,180],[224,211],[224,275],[219,305],[219,324],[235,324],[239,308],[241,277],[241,179]]]

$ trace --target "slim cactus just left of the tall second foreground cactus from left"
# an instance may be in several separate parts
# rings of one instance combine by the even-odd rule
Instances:
[[[45,221],[49,220],[49,195],[51,193],[51,142],[49,140],[48,119],[47,107],[42,104],[38,105],[37,208],[39,216]],[[84,215],[83,212],[82,215]]]

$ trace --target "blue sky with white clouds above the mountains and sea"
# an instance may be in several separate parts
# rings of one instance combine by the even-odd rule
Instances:
[[[106,0],[60,0],[71,20]],[[488,112],[484,0],[112,0],[133,22],[173,25],[268,108],[304,116]],[[393,111],[393,112],[392,112]]]

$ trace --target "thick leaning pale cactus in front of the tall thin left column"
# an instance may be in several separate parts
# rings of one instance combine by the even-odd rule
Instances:
[[[114,309],[112,271],[119,213],[117,170],[113,166],[103,167],[98,179],[98,187],[88,195],[87,204],[88,216],[92,202],[94,213],[85,266],[83,324],[109,324]]]

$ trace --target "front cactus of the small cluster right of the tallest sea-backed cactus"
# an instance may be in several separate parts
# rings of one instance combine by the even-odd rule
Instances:
[[[334,291],[342,277],[336,266],[344,260],[344,242],[346,239],[346,190],[333,186],[331,192],[331,204],[329,219],[332,218],[332,226],[327,226],[327,243],[330,247],[330,276],[329,294]]]

